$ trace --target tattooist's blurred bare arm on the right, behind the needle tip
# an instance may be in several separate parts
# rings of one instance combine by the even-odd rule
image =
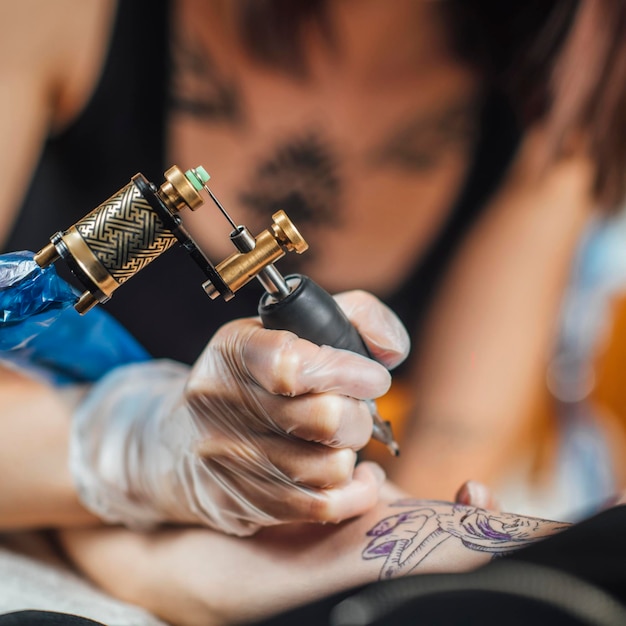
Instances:
[[[449,497],[468,473],[494,484],[537,441],[531,419],[589,215],[589,170],[572,157],[537,179],[536,149],[524,147],[464,241],[423,333],[413,430],[393,466],[412,493]]]

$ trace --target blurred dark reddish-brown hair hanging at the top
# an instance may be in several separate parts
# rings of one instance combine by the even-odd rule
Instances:
[[[332,44],[328,0],[240,0],[240,28],[261,62],[303,76],[302,29]],[[595,195],[626,198],[626,1],[441,0],[457,53],[502,88],[524,128],[542,120],[557,158],[572,134],[589,145]]]

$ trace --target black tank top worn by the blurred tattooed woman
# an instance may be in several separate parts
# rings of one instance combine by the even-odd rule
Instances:
[[[165,0],[118,3],[100,81],[79,118],[46,142],[6,250],[39,250],[137,172],[162,182],[163,172],[173,165],[165,162],[168,18]],[[481,129],[450,218],[410,278],[387,300],[415,332],[461,237],[501,180],[518,143],[511,109],[497,94],[485,101]],[[62,265],[57,264],[64,274]],[[201,288],[203,281],[187,254],[174,248],[117,290],[105,308],[155,357],[191,363],[219,326],[256,315],[261,295],[260,286],[250,283],[228,303],[212,301]]]

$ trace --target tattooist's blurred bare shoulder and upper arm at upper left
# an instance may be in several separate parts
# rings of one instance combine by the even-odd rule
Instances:
[[[46,138],[80,113],[97,84],[116,0],[0,3],[0,243]]]

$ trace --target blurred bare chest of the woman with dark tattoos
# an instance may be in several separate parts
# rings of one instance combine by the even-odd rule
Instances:
[[[193,4],[174,42],[173,162],[204,165],[253,232],[285,210],[310,244],[302,269],[331,291],[393,291],[445,222],[475,139],[476,78],[433,3],[331,3],[335,44],[305,32],[301,78],[255,63]],[[189,223],[230,254],[226,224]]]

